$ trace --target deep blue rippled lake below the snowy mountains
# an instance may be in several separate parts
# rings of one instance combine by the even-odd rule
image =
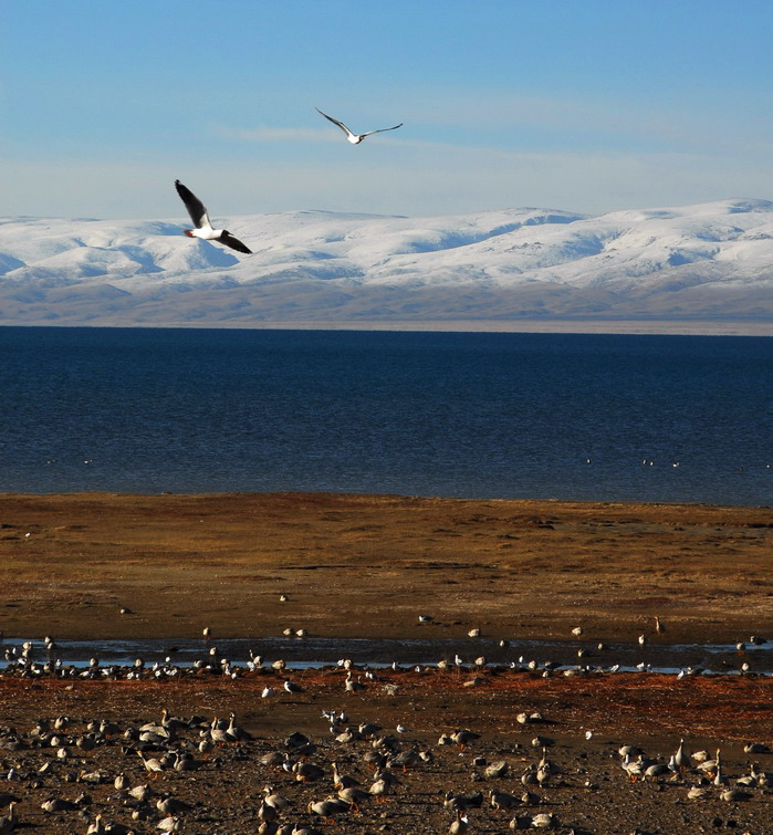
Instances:
[[[0,327],[0,358],[3,492],[773,500],[769,337]]]

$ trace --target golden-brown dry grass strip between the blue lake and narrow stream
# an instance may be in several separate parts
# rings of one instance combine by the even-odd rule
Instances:
[[[395,495],[0,497],[0,628],[668,640],[773,632],[773,513]],[[281,602],[285,594],[288,602]],[[135,614],[119,616],[122,607]]]

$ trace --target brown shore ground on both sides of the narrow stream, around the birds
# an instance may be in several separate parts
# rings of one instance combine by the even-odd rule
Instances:
[[[466,640],[474,627],[484,638],[515,645],[563,639],[581,625],[582,641],[634,643],[644,634],[651,644],[734,643],[752,634],[773,637],[772,525],[767,509],[704,505],[3,495],[0,628],[36,639],[199,638],[211,626],[215,644],[218,637],[252,637],[258,650],[261,637],[288,627],[328,637]],[[119,614],[122,607],[132,614]],[[432,622],[419,624],[420,614]],[[656,614],[662,635],[654,629]],[[443,807],[446,792],[494,787],[522,795],[520,777],[542,755],[531,744],[539,733],[553,741],[549,756],[561,768],[545,787],[530,787],[543,805],[504,813],[487,799],[484,808],[470,811],[469,832],[509,832],[513,816],[526,825],[526,816],[539,812],[554,813],[558,832],[771,832],[770,789],[728,803],[711,786],[707,797],[691,801],[687,791],[698,783],[697,772],[631,784],[617,753],[634,742],[667,760],[685,737],[688,751],[721,747],[724,776],[733,784],[754,760],[773,771],[773,756],[743,751],[752,740],[773,744],[769,676],[545,677],[466,664],[461,670],[379,670],[375,680],[361,668],[354,676],[365,689],[346,692],[341,669],[293,670],[290,664],[282,674],[254,672],[242,659],[239,667],[236,678],[201,671],[161,680],[148,674],[138,681],[7,674],[0,678],[0,759],[2,770],[14,768],[20,779],[2,792],[19,797],[20,817],[39,832],[85,832],[85,818],[97,812],[137,832],[157,832],[161,815],[154,811],[150,820],[133,823],[136,803],[113,786],[118,772],[132,785],[146,780],[134,751],[138,742],[97,734],[96,747],[85,752],[75,738],[93,718],[116,721],[123,733],[157,720],[161,707],[207,722],[236,711],[254,740],[216,748],[206,759],[197,753],[195,772],[165,772],[148,782],[190,804],[180,816],[186,833],[257,832],[267,782],[293,801],[282,823],[311,822],[306,805],[332,791],[333,761],[365,787],[372,780],[373,768],[363,762],[372,740],[336,742],[321,717],[323,709],[345,709],[348,724],[377,722],[401,750],[429,750],[432,762],[407,774],[396,766],[401,785],[383,807],[367,802],[335,827],[317,821],[320,829],[443,833],[453,820]],[[285,693],[285,677],[302,692]],[[274,692],[263,699],[267,686]],[[521,712],[540,712],[546,721],[521,724]],[[63,760],[30,734],[38,719],[60,714],[72,718]],[[396,732],[398,723],[405,733]],[[438,744],[441,733],[457,728],[471,728],[480,739],[466,750]],[[180,735],[197,743],[200,730]],[[259,762],[283,749],[295,730],[317,745],[310,760],[324,772],[307,785]],[[506,761],[508,774],[487,776],[476,758]],[[48,761],[51,771],[41,774]],[[95,770],[104,782],[79,777]],[[84,789],[92,803],[81,812],[46,816],[40,808],[49,796],[73,800]]]

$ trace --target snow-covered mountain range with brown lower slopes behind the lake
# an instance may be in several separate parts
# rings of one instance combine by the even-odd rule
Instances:
[[[0,220],[0,323],[242,325],[773,319],[773,202],[588,217],[296,211],[186,221]]]

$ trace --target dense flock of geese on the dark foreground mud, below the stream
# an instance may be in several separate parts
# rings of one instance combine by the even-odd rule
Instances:
[[[515,745],[516,761],[499,756],[500,748],[488,749],[497,755],[490,761],[476,750],[482,747],[482,734],[470,729],[447,731],[435,744],[421,744],[404,740],[408,733],[404,727],[390,732],[375,722],[353,721],[346,710],[323,710],[321,723],[316,738],[295,731],[281,743],[254,737],[233,712],[228,719],[209,719],[174,717],[164,709],[159,720],[142,724],[59,716],[40,719],[28,731],[1,728],[0,779],[9,791],[0,790],[0,804],[8,810],[0,817],[0,835],[40,825],[30,814],[25,823],[18,808],[32,797],[41,811],[38,817],[69,822],[70,832],[80,826],[86,835],[237,831],[321,835],[320,826],[347,820],[374,823],[394,821],[411,810],[418,814],[417,803],[433,803],[438,812],[442,804],[451,835],[472,833],[476,821],[490,823],[500,820],[500,813],[508,816],[510,831],[550,828],[588,835],[551,811],[561,805],[556,791],[583,790],[595,799],[583,805],[604,804],[606,774],[591,773],[584,752],[574,761],[558,762],[551,751],[554,740],[541,733],[530,747]],[[533,713],[524,714],[521,723],[539,726],[547,720]],[[592,737],[586,733],[586,740]],[[758,758],[772,752],[765,744],[750,743],[744,753]],[[773,790],[773,774],[762,770],[756,759],[745,773],[732,776],[721,749],[713,755],[689,754],[683,739],[670,759],[650,758],[635,744],[620,745],[615,755],[621,785],[654,784],[659,791],[673,786],[690,803],[712,799],[769,803]],[[253,794],[234,799],[230,806],[209,804],[207,795],[216,783],[239,768],[249,773]],[[437,800],[431,795],[420,800],[411,789],[417,772],[451,782],[464,771],[480,789],[447,789],[438,792]],[[240,823],[231,814],[234,807],[242,813]],[[243,828],[246,811],[249,829]],[[488,823],[483,831],[490,832]]]

